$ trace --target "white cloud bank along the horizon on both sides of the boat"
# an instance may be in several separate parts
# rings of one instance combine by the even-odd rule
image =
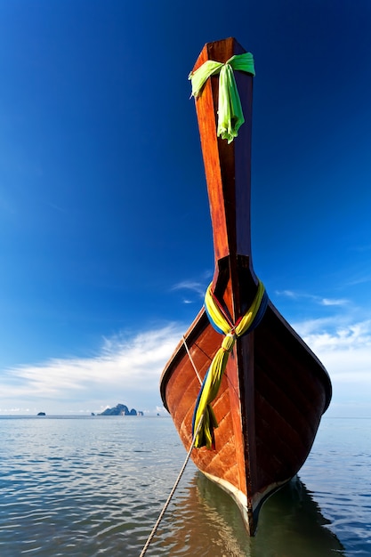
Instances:
[[[371,320],[311,319],[294,329],[323,362],[334,396],[330,411],[371,416]],[[122,402],[163,412],[159,377],[185,327],[173,324],[104,339],[90,358],[50,359],[12,367],[0,376],[0,413],[101,412]],[[85,408],[82,410],[82,408]]]

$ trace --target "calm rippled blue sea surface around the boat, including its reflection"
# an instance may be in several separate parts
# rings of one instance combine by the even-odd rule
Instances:
[[[169,418],[1,417],[0,555],[139,557],[185,451]],[[188,464],[148,556],[371,555],[371,419],[323,418],[256,537]]]

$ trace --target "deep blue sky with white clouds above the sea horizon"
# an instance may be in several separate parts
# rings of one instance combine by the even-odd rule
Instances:
[[[371,4],[0,0],[0,414],[161,408],[214,255],[190,69],[254,53],[252,241],[371,416]]]

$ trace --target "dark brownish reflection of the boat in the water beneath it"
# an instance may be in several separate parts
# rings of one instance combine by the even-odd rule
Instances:
[[[200,472],[181,488],[165,520],[162,552],[173,557],[345,557],[319,505],[295,476],[263,505],[255,537],[248,537],[238,507]],[[161,554],[162,554],[161,552]]]

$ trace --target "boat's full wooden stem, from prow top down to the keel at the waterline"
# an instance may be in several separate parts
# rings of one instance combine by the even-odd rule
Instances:
[[[205,61],[228,61],[234,54],[246,52],[233,39],[206,44],[194,70]],[[256,293],[251,257],[250,186],[251,125],[253,76],[235,72],[245,117],[238,137],[228,144],[217,137],[219,77],[213,76],[196,101],[201,148],[214,233],[214,294],[236,322],[251,305]],[[238,370],[248,370],[248,373]],[[247,496],[247,515],[254,532],[251,493],[256,485],[254,417],[254,333],[238,340],[226,373],[230,382],[231,419],[237,452],[239,488]],[[241,419],[242,422],[241,423]]]

